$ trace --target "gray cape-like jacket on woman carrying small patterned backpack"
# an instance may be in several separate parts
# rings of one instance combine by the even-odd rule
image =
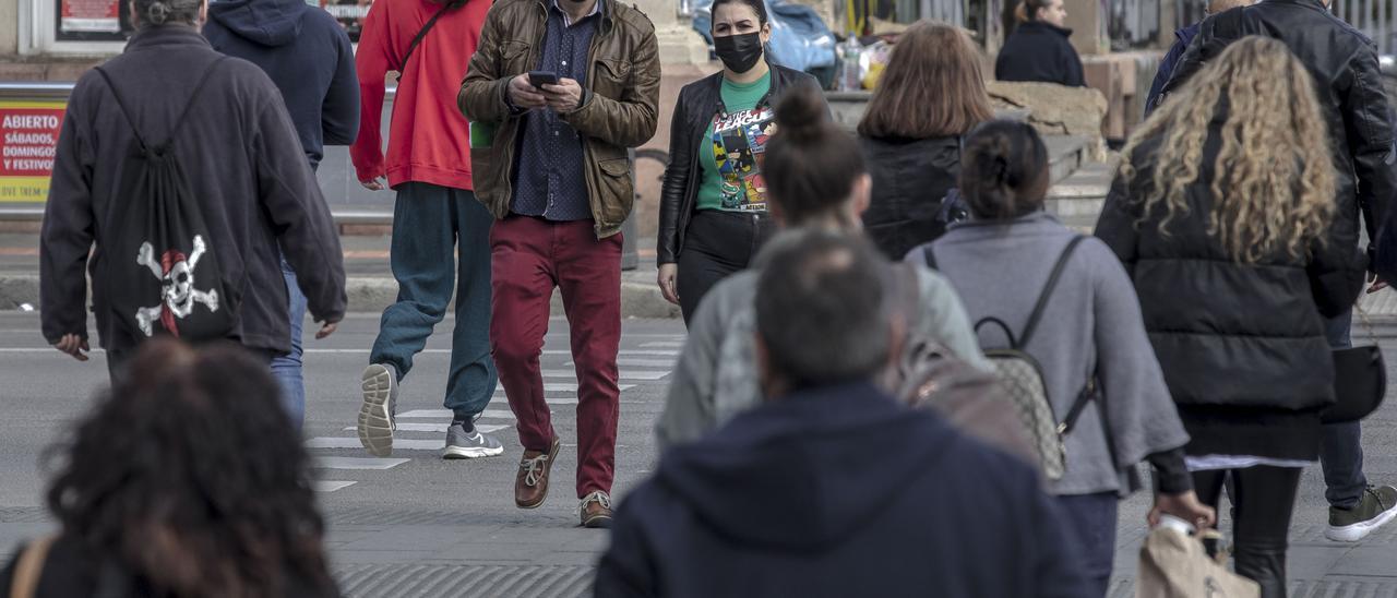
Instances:
[[[937,268],[965,299],[971,319],[993,316],[1017,334],[1074,235],[1056,218],[1035,212],[1007,224],[954,226],[932,247]],[[922,254],[912,251],[909,258]],[[986,349],[1009,345],[997,327],[983,327],[979,341]],[[1092,373],[1102,388],[1101,401],[1067,435],[1067,474],[1052,483],[1052,493],[1126,495],[1139,488],[1136,464],[1187,443],[1130,277],[1099,239],[1087,239],[1070,257],[1025,349],[1044,369],[1058,418],[1066,416]]]

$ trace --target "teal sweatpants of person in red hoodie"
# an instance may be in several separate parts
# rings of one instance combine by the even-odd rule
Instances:
[[[412,372],[432,328],[455,292],[451,369],[443,405],[474,418],[495,395],[499,374],[490,358],[490,225],[495,217],[475,193],[429,183],[404,183],[393,208],[390,263],[398,302],[383,310],[370,363],[393,365],[398,379]]]

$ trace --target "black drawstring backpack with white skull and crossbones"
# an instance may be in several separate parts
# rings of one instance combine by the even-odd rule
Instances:
[[[99,272],[116,330],[136,341],[168,334],[197,342],[226,338],[233,330],[235,298],[173,151],[190,109],[222,60],[204,70],[169,138],[156,145],[145,143],[112,77],[96,67],[136,136],[106,215]]]

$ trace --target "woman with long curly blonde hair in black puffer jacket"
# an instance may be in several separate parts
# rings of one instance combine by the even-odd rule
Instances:
[[[1231,474],[1236,570],[1285,595],[1301,469],[1334,401],[1322,316],[1352,306],[1365,264],[1326,243],[1336,170],[1312,77],[1245,38],[1126,144],[1097,236],[1130,271],[1179,408],[1194,488]]]

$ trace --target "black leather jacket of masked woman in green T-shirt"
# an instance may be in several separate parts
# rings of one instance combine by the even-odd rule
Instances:
[[[809,74],[771,64],[771,91],[759,102],[774,105],[774,98],[788,87],[809,87],[820,91],[820,84]],[[661,264],[679,261],[685,246],[685,232],[694,214],[698,198],[698,143],[703,133],[712,124],[712,117],[722,106],[722,73],[704,77],[679,91],[675,117],[669,124],[669,166],[665,168],[665,183],[659,191],[659,246],[657,258]]]

